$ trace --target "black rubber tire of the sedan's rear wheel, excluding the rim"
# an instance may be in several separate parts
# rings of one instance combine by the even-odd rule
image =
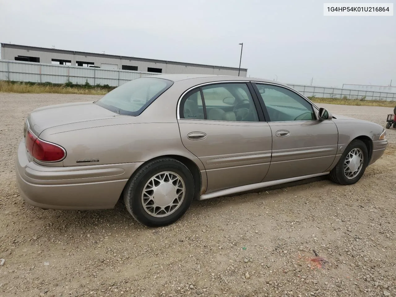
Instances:
[[[142,203],[142,193],[148,181],[156,174],[169,171],[176,173],[185,185],[185,196],[179,207],[171,214],[164,217],[150,215]],[[194,198],[194,179],[190,170],[181,162],[172,158],[153,160],[140,168],[128,181],[124,189],[124,204],[132,217],[139,223],[158,227],[166,226],[180,219],[190,207]]]

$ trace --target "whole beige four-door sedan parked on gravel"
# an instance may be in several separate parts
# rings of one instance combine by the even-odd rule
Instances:
[[[149,226],[203,200],[320,175],[356,183],[387,146],[380,125],[332,115],[277,82],[156,75],[95,102],[33,110],[19,191],[44,209],[109,209],[124,199]]]

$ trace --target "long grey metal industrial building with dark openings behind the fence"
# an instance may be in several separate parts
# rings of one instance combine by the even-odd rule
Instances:
[[[132,70],[169,74],[221,74],[238,76],[238,68],[214,65],[182,63],[137,57],[86,53],[53,48],[38,48],[17,44],[1,44],[1,58],[5,60],[36,63],[95,67],[109,70]],[[247,69],[240,69],[240,76],[247,76]]]

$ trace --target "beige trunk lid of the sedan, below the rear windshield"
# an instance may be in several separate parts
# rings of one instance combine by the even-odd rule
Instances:
[[[115,117],[118,117],[116,113],[89,101],[40,107],[30,112],[27,121],[32,132],[39,136],[48,128]]]

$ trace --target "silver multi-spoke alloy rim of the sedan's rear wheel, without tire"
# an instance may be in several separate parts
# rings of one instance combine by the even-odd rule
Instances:
[[[164,171],[148,180],[143,188],[141,201],[149,215],[166,217],[180,207],[184,196],[185,184],[180,175]]]

